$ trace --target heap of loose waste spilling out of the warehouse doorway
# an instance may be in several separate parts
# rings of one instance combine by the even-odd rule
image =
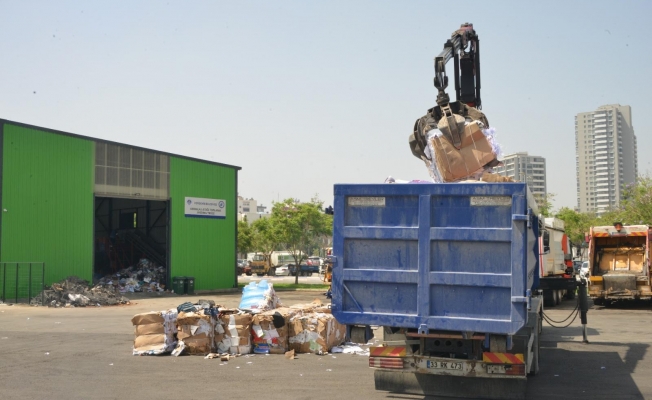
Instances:
[[[143,258],[137,265],[103,277],[95,287],[114,288],[119,293],[165,292],[166,279],[165,267]]]

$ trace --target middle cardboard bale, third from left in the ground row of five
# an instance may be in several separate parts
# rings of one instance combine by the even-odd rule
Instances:
[[[215,324],[215,346],[220,353],[251,353],[252,315],[239,310],[221,310]]]

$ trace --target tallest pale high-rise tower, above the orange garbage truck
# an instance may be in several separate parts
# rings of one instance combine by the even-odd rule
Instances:
[[[577,209],[598,215],[615,208],[638,176],[630,106],[610,104],[575,116]]]

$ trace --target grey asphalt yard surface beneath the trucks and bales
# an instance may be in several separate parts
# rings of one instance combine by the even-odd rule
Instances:
[[[287,305],[326,301],[320,291],[278,295]],[[424,398],[376,391],[368,358],[359,355],[249,355],[226,363],[201,356],[132,356],[134,314],[199,298],[236,307],[240,294],[145,298],[100,308],[0,306],[0,398]],[[546,313],[561,321],[573,306],[566,301]],[[578,320],[564,329],[544,325],[541,372],[528,378],[527,398],[652,398],[650,317],[648,304],[593,307],[589,344],[581,341]]]

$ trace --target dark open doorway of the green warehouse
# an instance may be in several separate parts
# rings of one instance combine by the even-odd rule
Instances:
[[[169,237],[169,201],[95,197],[94,281],[131,268],[140,282],[165,284]]]

